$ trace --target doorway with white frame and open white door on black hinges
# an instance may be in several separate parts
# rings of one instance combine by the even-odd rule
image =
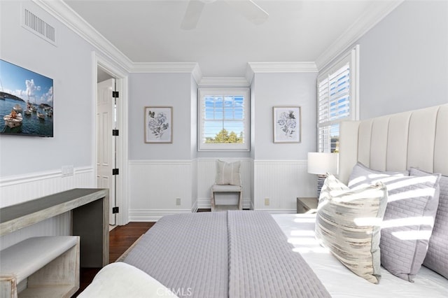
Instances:
[[[94,117],[94,142],[92,150],[92,161],[94,166],[95,184],[97,187],[109,189],[109,219],[111,225],[126,225],[129,222],[128,215],[128,196],[127,196],[127,76],[129,73],[113,64],[109,59],[105,59],[97,52],[92,53],[93,64],[92,73],[94,73],[94,102],[92,103]],[[108,87],[103,86],[103,83]],[[113,84],[113,82],[115,84]],[[109,106],[113,106],[112,111],[109,107],[109,115],[102,116],[102,107],[99,106],[100,101],[104,101],[106,97],[106,89],[115,90],[118,94],[109,93]],[[103,91],[100,91],[103,90]],[[100,94],[101,93],[101,94]],[[101,119],[101,120],[100,120]],[[107,127],[110,124],[112,129]],[[109,130],[109,132],[105,132]],[[115,134],[115,136],[112,136]],[[104,162],[104,159],[111,162]],[[100,169],[99,164],[104,163],[104,169]],[[109,167],[109,169],[106,169]],[[103,165],[101,166],[103,168]],[[111,169],[116,169],[116,175],[112,175]],[[110,174],[104,175],[103,171]],[[102,186],[104,185],[104,187]],[[113,211],[114,208],[114,213]]]

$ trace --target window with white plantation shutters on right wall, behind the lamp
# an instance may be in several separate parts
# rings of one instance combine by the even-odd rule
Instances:
[[[339,123],[358,119],[359,45],[317,78],[318,152],[339,150]]]

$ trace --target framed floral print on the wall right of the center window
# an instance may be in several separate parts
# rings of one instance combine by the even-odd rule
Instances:
[[[302,136],[300,106],[274,106],[272,120],[274,143],[300,143]]]

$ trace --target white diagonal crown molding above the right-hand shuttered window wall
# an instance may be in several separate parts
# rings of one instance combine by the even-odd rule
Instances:
[[[316,59],[317,69],[320,71],[324,69],[333,59],[342,55],[347,49],[351,48],[359,38],[367,33],[374,25],[378,24],[386,17],[392,10],[397,8],[405,0],[394,1],[375,1],[370,5],[370,9],[366,13],[360,15],[356,22],[344,31],[344,33],[333,42],[327,50],[325,50]]]

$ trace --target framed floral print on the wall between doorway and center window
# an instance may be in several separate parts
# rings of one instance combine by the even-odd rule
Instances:
[[[145,106],[145,143],[173,143],[172,106]]]

